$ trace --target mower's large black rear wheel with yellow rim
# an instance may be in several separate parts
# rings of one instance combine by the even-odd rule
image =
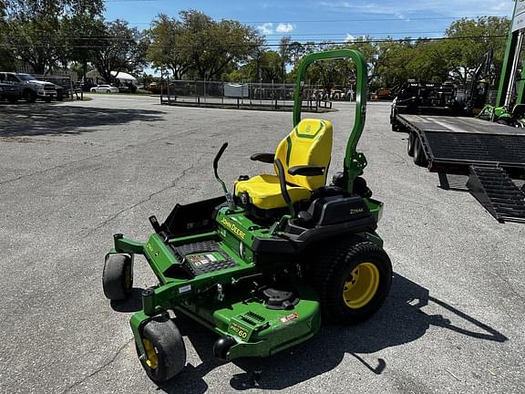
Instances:
[[[392,264],[382,248],[354,236],[324,244],[316,255],[310,279],[325,318],[355,324],[383,305],[392,285]]]

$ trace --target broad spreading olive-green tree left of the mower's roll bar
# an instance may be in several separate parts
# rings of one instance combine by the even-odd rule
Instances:
[[[251,26],[234,20],[216,22],[195,11],[181,11],[181,56],[201,79],[220,78],[226,67],[246,63],[262,46],[263,40]]]

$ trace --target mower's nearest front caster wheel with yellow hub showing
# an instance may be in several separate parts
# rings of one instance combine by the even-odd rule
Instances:
[[[139,354],[140,364],[149,378],[165,381],[180,374],[186,365],[186,347],[180,331],[169,317],[155,317],[142,330],[146,354]],[[137,347],[139,353],[139,347]]]

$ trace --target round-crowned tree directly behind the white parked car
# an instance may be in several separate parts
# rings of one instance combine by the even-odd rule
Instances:
[[[105,25],[105,35],[93,48],[93,64],[107,82],[114,80],[111,71],[137,71],[146,66],[146,51],[149,42],[137,27],[128,27],[128,22],[116,20]]]

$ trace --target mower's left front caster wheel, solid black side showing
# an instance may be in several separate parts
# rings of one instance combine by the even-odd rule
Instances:
[[[102,288],[106,298],[124,300],[131,293],[133,264],[129,254],[109,254],[102,272]]]

